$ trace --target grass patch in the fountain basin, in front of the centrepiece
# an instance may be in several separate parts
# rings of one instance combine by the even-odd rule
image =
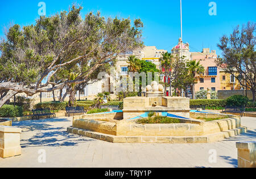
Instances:
[[[180,120],[176,118],[166,117],[166,116],[154,116],[141,118],[136,121],[137,123],[180,123]]]

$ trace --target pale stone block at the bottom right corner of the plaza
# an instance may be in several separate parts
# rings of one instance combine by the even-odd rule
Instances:
[[[238,168],[256,168],[256,142],[237,142]]]

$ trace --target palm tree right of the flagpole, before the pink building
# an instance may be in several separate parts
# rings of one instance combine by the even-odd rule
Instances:
[[[188,67],[189,73],[194,78],[194,83],[192,83],[192,99],[195,99],[196,74],[204,73],[204,67],[202,65],[200,65],[200,61],[196,62],[196,60],[187,62],[187,67]]]

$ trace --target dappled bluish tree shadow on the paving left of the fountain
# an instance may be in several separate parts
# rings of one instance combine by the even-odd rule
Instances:
[[[55,125],[56,122],[58,122],[58,126]],[[75,134],[69,134],[66,127],[61,127],[62,122],[65,122],[65,126],[67,126],[67,122],[71,123],[67,118],[50,118],[14,122],[13,126],[21,128],[22,133],[27,138],[22,138],[20,140],[20,146],[22,148],[42,146],[76,146],[81,142],[95,140],[80,137]]]

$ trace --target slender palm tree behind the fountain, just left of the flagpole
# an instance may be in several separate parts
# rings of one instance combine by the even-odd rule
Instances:
[[[168,84],[168,75],[172,70],[172,56],[171,53],[162,53],[162,57],[159,59],[162,68],[164,69],[164,76],[166,76],[166,82],[164,82],[164,95],[166,95],[166,86]],[[170,91],[171,94],[171,91]]]

